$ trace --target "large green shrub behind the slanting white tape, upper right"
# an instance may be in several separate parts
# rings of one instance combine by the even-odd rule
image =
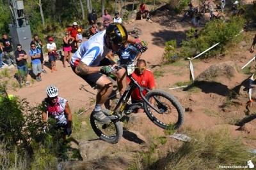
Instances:
[[[195,56],[219,42],[218,46],[204,53],[203,57],[212,57],[225,52],[225,49],[234,48],[243,38],[241,34],[236,36],[243,29],[243,24],[244,19],[242,17],[230,17],[227,22],[212,20],[207,22],[205,28],[198,33],[198,38],[193,38],[195,30],[191,29],[187,32],[187,40],[182,42],[180,56],[184,58]],[[225,48],[227,43],[234,46]]]

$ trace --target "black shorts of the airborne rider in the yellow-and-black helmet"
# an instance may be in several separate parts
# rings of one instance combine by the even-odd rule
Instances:
[[[103,60],[100,61],[99,66],[108,66],[108,65],[113,65],[114,63],[107,59],[104,58]],[[72,66],[72,70],[74,71],[74,73],[76,73],[75,66]],[[79,75],[77,74],[77,76],[83,78],[84,81],[86,81],[91,87],[95,87],[96,82],[99,80],[99,78],[102,76],[102,73],[93,73],[93,74],[87,74],[87,75]]]

